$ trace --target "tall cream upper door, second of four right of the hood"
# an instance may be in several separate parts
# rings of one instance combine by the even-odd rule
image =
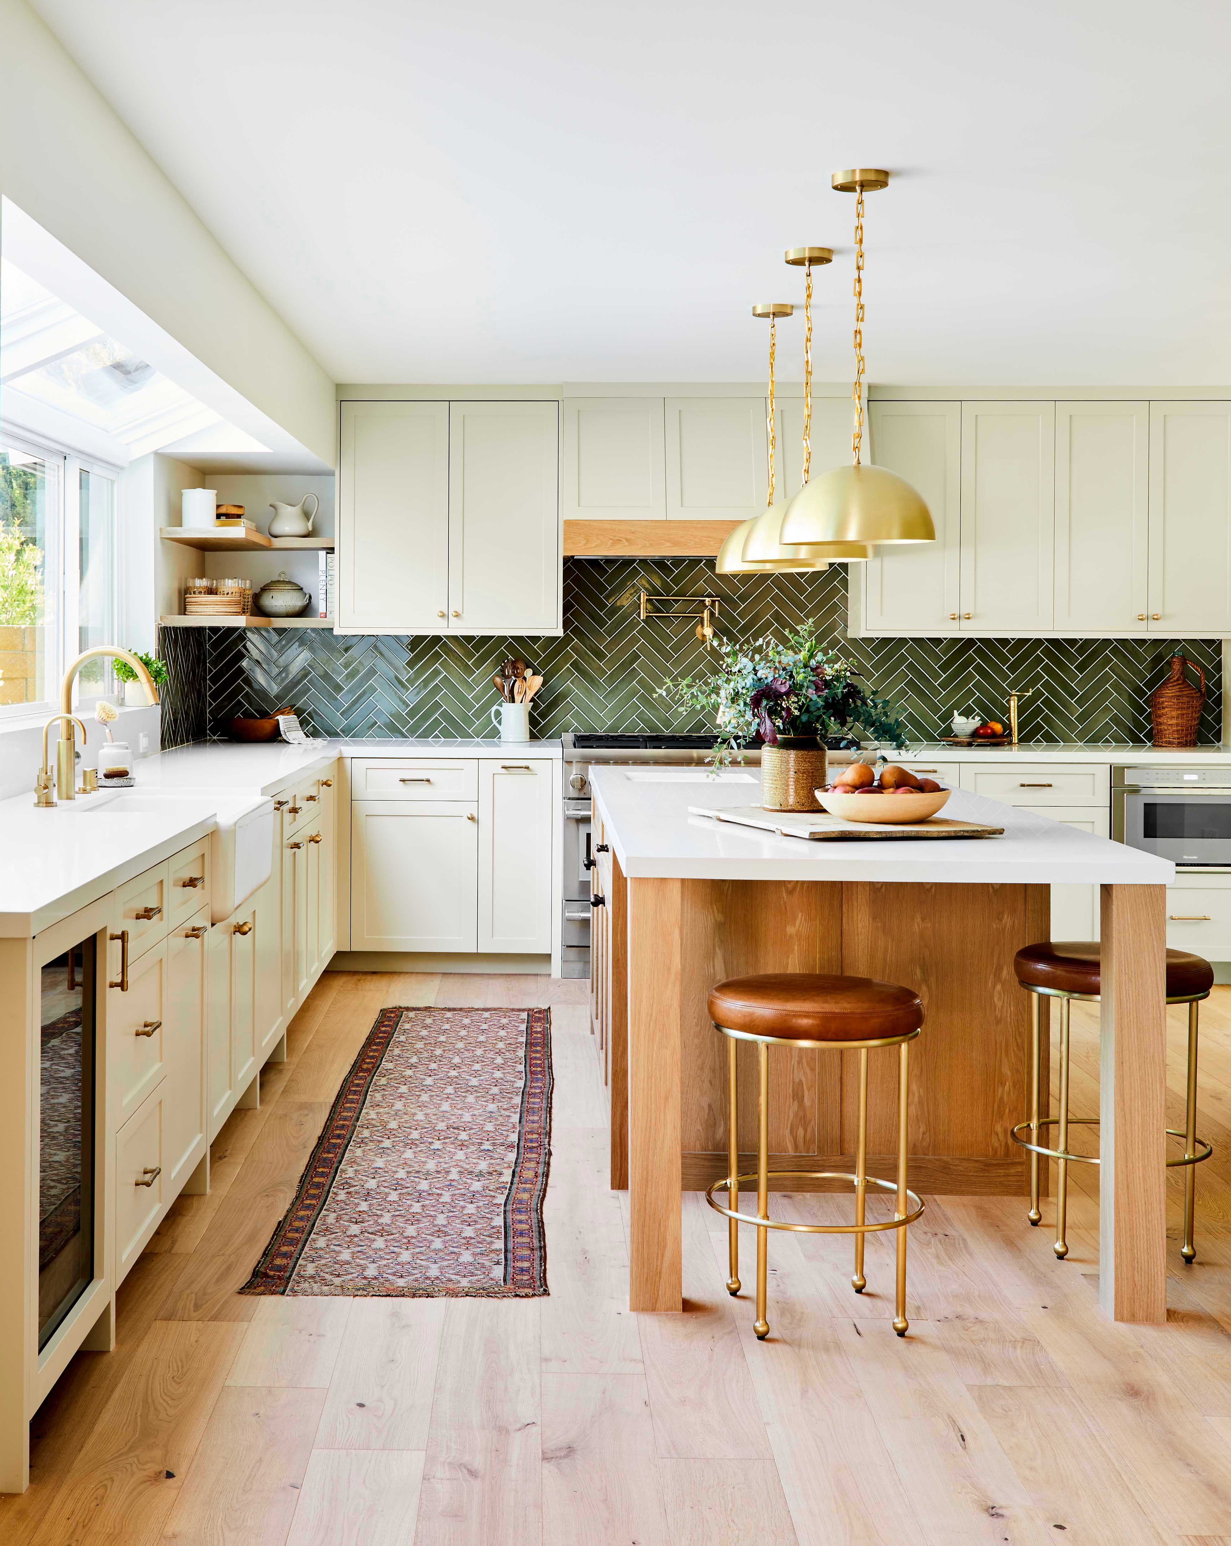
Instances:
[[[962,405],[962,632],[1052,628],[1055,434],[1050,402]]]

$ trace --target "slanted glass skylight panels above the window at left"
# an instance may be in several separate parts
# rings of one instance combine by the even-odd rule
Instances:
[[[0,258],[0,390],[6,421],[46,430],[53,410],[144,456],[226,421]]]

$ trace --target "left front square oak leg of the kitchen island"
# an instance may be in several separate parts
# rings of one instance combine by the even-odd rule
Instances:
[[[682,1309],[677,880],[628,881],[629,1309]]]

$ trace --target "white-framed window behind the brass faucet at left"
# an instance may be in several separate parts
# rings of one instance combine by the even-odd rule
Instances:
[[[114,643],[116,589],[113,472],[0,434],[0,717],[49,710],[65,665]],[[91,662],[82,699],[111,691]]]

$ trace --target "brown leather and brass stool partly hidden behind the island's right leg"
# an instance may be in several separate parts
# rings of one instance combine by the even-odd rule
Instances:
[[[1098,1164],[1095,1155],[1075,1155],[1069,1152],[1070,1127],[1098,1127],[1096,1116],[1069,1115],[1069,1006],[1073,999],[1087,1003],[1098,1003],[1101,993],[1100,979],[1100,946],[1096,940],[1069,940],[1064,943],[1045,942],[1042,945],[1027,945],[1018,951],[1013,969],[1018,982],[1032,994],[1030,1027],[1033,1051],[1033,1076],[1030,1081],[1030,1119],[1018,1122],[1013,1129],[1013,1141],[1030,1150],[1030,1218],[1038,1224],[1039,1218],[1039,1155],[1059,1161],[1059,1178],[1056,1186],[1056,1241],[1052,1248],[1058,1257],[1069,1255],[1069,1241],[1064,1238],[1066,1209],[1069,1203],[1069,1166]],[[1188,1091],[1185,1105],[1185,1130],[1177,1132],[1168,1127],[1169,1138],[1183,1138],[1185,1152],[1177,1160],[1168,1160],[1168,1169],[1186,1166],[1185,1170],[1185,1243],[1180,1255],[1185,1262],[1192,1262],[1197,1255],[1192,1245],[1192,1212],[1195,1201],[1195,1172],[1202,1160],[1208,1160],[1214,1149],[1197,1138],[1197,1005],[1209,997],[1214,986],[1214,968],[1200,955],[1188,951],[1168,951],[1166,960],[1166,999],[1168,1003],[1188,1005]],[[1039,1119],[1039,999],[1059,999],[1059,1116]],[[1049,1149],[1039,1144],[1039,1129],[1056,1127],[1056,1142],[1059,1147]]]

